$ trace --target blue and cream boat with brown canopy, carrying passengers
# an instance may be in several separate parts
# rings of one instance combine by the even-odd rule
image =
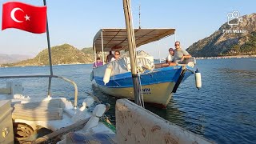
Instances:
[[[174,34],[175,29],[134,29],[136,46],[158,41]],[[101,29],[94,37],[95,59],[101,52],[128,49],[126,29]],[[154,64],[154,57],[142,52],[136,53],[138,73],[140,74],[141,92],[144,102],[166,107],[172,94],[182,81],[194,74],[194,64],[159,67]],[[97,55],[97,56],[96,56]],[[134,87],[130,71],[130,58],[124,54],[116,61],[105,63],[93,69],[93,78],[103,93],[117,98],[134,99]]]

